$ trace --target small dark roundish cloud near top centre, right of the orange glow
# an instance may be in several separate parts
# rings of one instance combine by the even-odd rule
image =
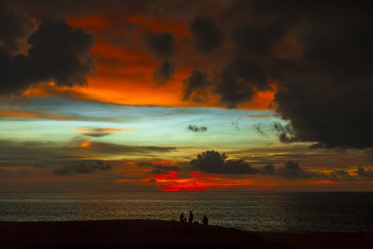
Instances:
[[[217,28],[212,18],[196,16],[189,26],[195,45],[203,53],[219,48],[223,41],[223,32]]]

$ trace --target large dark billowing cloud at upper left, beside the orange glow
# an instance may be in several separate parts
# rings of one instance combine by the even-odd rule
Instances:
[[[28,37],[28,55],[0,48],[0,93],[21,92],[32,84],[54,81],[59,86],[82,85],[94,67],[92,34],[72,29],[65,21],[44,17]]]

